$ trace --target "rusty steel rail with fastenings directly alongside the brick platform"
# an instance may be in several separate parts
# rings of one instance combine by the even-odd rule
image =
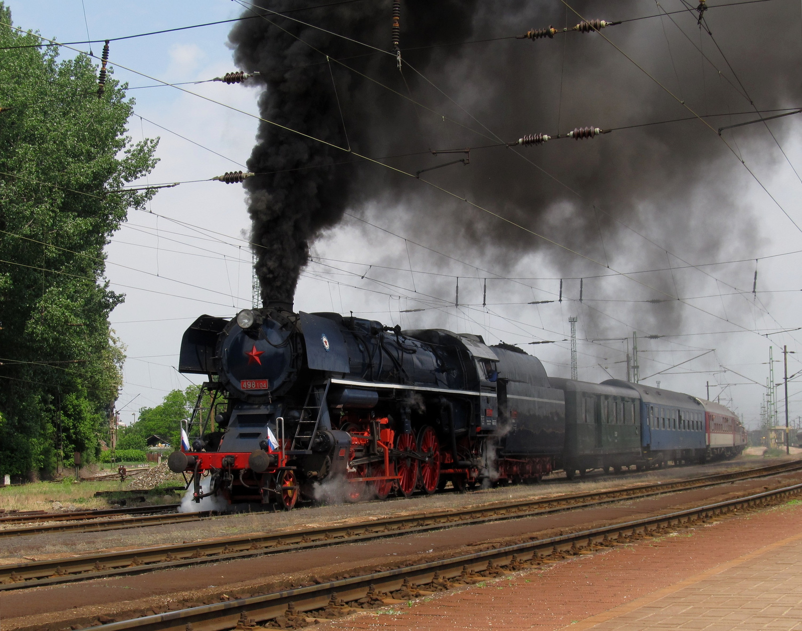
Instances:
[[[346,602],[357,601],[366,597],[368,593],[375,593],[376,590],[392,592],[404,585],[415,589],[415,585],[430,584],[437,577],[448,579],[460,575],[465,576],[466,573],[499,569],[504,566],[512,566],[512,569],[515,569],[516,565],[548,557],[555,553],[593,549],[600,544],[626,543],[633,541],[641,534],[676,525],[693,524],[695,520],[709,520],[714,516],[736,511],[739,508],[759,507],[772,500],[782,500],[788,496],[798,495],[800,492],[802,492],[802,484],[792,484],[715,504],[704,504],[687,510],[610,524],[578,533],[527,541],[516,545],[505,545],[477,553],[448,557],[439,561],[329,581],[320,585],[286,589],[261,596],[111,622],[102,625],[101,628],[103,631],[129,631],[129,629],[184,631],[184,629],[190,628],[197,629],[197,631],[251,629],[257,622],[282,616],[290,609],[290,605],[292,605],[291,610],[295,612],[323,609],[334,598]],[[86,629],[96,628],[96,626],[92,626]]]

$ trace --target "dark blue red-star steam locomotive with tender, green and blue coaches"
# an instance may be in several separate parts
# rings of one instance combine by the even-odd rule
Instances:
[[[711,448],[704,404],[688,395],[549,379],[509,344],[286,303],[201,315],[184,332],[179,370],[209,376],[168,460],[192,475],[198,502],[290,509],[299,497],[383,499],[449,481],[463,490],[559,468],[573,478],[703,461],[745,444],[733,425],[733,444]]]

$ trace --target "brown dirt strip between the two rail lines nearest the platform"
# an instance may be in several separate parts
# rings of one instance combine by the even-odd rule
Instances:
[[[636,519],[657,511],[724,500],[747,492],[760,492],[767,487],[799,483],[800,480],[802,474],[797,472],[768,480],[745,480],[715,488],[670,493],[549,516],[212,563],[201,568],[164,570],[131,577],[25,589],[0,594],[0,603],[7,629],[63,629],[67,621],[91,624],[100,615],[121,619],[148,611],[160,612],[190,606],[192,603],[216,602],[224,595],[228,598],[267,593],[316,578],[326,581],[379,568],[398,567],[407,562],[432,561],[454,554],[476,552],[493,543],[506,545],[529,541],[534,533],[545,537],[588,529],[604,523]]]

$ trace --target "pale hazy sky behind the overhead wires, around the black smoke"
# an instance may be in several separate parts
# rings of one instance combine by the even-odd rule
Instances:
[[[800,34],[802,51],[798,3],[774,1],[792,7],[789,15],[796,11],[796,18],[777,27]],[[241,6],[230,0],[6,3],[16,26],[37,30],[59,42],[115,38],[241,14]],[[653,3],[641,4],[643,14],[654,11]],[[672,4],[679,3],[667,2],[666,6],[674,8]],[[230,24],[219,24],[111,43],[114,76],[128,82],[128,95],[136,99],[136,115],[129,121],[128,134],[134,141],[160,137],[156,151],[160,162],[144,183],[186,182],[161,190],[146,211],[129,211],[128,221],[107,247],[107,279],[115,291],[126,295],[124,303],[111,314],[115,335],[128,356],[117,402],[126,424],[136,420],[141,407],[159,404],[172,389],[199,381],[176,370],[180,339],[192,320],[204,313],[230,317],[252,304],[244,192],[237,184],[207,181],[225,171],[244,169],[257,130],[257,87],[204,82],[237,70],[227,45],[230,28]],[[648,39],[641,46],[650,46]],[[91,47],[99,54],[102,44]],[[88,50],[87,44],[75,48]],[[643,50],[627,52],[637,58]],[[64,50],[63,54],[74,53]],[[628,63],[613,50],[606,54],[610,54],[612,64]],[[570,82],[570,77],[566,79]],[[182,83],[183,90],[160,86],[160,81]],[[621,107],[631,105],[622,103]],[[791,103],[788,107],[800,105]],[[788,161],[802,171],[799,125],[795,117],[788,117],[772,123],[772,129],[778,135],[782,132]],[[680,135],[686,133],[703,132],[684,127],[678,131]],[[750,133],[753,135],[742,137],[744,157],[760,182],[800,223],[802,181],[777,154],[775,145],[763,142],[761,137],[755,139],[758,132]],[[558,174],[577,177],[569,162],[549,166]],[[586,278],[579,302],[578,279],[560,280],[556,253],[548,247],[521,255],[512,267],[496,264],[486,252],[472,255],[464,248],[449,247],[434,234],[427,238],[425,229],[411,224],[419,222],[421,215],[404,208],[403,203],[389,211],[354,207],[342,223],[322,235],[312,248],[314,262],[302,273],[295,308],[343,314],[352,311],[402,328],[448,328],[480,334],[491,344],[500,340],[519,344],[540,357],[553,376],[570,375],[569,317],[576,316],[578,372],[580,379],[589,381],[626,376],[626,352],[631,351],[633,331],[637,330],[643,382],[655,386],[659,382],[662,388],[701,397],[707,396],[710,384],[711,398],[720,397],[754,427],[765,392],[761,384],[768,378],[770,347],[776,362],[776,383],[783,375],[784,344],[792,352],[788,374],[796,375],[802,369],[802,361],[796,359],[796,352],[802,354],[802,346],[797,344],[802,331],[791,330],[802,326],[802,260],[800,253],[786,254],[802,248],[800,232],[767,191],[743,171],[731,173],[735,174],[731,186],[743,188],[743,203],[754,219],[754,239],[727,250],[732,254],[727,260],[743,259],[727,265],[689,268],[666,253],[666,267],[671,268],[668,278],[676,291],[703,297],[687,300],[683,304],[686,311],[676,326],[660,325],[665,330],[643,325],[654,311],[639,311],[665,308],[660,304],[616,301],[637,297],[628,279],[617,276],[606,281],[610,284],[603,291],[597,291],[599,285],[591,277],[600,271],[593,266],[582,267],[574,274]],[[193,180],[202,181],[190,182]],[[711,182],[711,191],[712,187]],[[638,227],[643,234],[659,239],[670,217],[659,215],[652,201],[644,201]],[[504,206],[503,199],[498,203]],[[715,197],[703,195],[695,212],[704,215],[710,203],[715,203]],[[727,225],[726,212],[719,216],[725,219],[713,238],[728,239],[732,226]],[[642,239],[634,234],[616,243],[625,249],[642,247]],[[682,244],[674,245],[676,252],[691,263],[711,262],[703,251],[683,252]],[[770,258],[755,261],[759,257]],[[755,268],[758,283],[752,294]],[[528,303],[557,299],[561,282],[562,302]],[[647,335],[662,337],[643,339]],[[533,341],[552,343],[529,345]],[[792,420],[802,415],[800,381],[789,384]],[[781,388],[778,392],[781,396]],[[783,420],[781,401],[778,412]]]

